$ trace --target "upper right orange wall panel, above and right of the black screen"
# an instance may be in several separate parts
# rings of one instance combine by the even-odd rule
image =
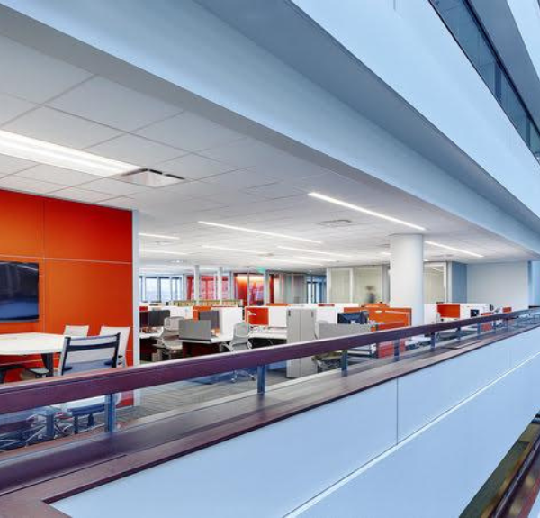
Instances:
[[[45,198],[45,257],[131,262],[131,213]]]

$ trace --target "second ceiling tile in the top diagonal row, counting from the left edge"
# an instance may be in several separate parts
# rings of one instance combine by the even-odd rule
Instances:
[[[50,106],[126,132],[178,114],[181,109],[155,97],[93,77],[49,102]]]

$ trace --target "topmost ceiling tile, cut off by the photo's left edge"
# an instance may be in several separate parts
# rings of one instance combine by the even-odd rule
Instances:
[[[92,75],[37,50],[0,37],[0,91],[43,103]]]

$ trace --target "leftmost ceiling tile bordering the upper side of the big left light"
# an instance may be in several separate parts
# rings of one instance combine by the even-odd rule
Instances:
[[[121,134],[102,124],[45,106],[5,124],[4,130],[79,150]]]

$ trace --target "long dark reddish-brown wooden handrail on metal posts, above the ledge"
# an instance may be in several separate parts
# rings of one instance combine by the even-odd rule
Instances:
[[[257,368],[290,359],[311,357],[385,341],[397,341],[411,336],[434,334],[481,323],[514,320],[519,316],[533,313],[535,310],[485,315],[445,323],[401,327],[319,341],[275,345],[265,349],[211,354],[139,367],[93,370],[84,374],[12,383],[0,386],[0,413],[30,410],[40,406],[73,401],[74,398],[83,399],[148,386],[164,385],[232,370]]]

